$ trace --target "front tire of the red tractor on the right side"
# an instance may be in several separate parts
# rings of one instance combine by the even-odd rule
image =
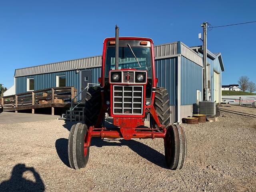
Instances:
[[[164,154],[169,169],[179,170],[187,155],[187,141],[184,130],[179,125],[169,126],[164,138]]]

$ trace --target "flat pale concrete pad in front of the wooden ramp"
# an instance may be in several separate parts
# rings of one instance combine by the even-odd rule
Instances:
[[[60,116],[45,115],[45,114],[2,112],[0,113],[0,124],[44,121],[44,120],[57,119],[58,117]]]

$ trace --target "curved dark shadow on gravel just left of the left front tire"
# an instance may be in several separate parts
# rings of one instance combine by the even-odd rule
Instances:
[[[55,142],[55,148],[60,160],[68,167],[70,167],[68,162],[68,139],[60,138]]]

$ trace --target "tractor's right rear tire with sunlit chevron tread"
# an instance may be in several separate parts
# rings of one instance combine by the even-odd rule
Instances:
[[[160,123],[164,125],[165,128],[167,128],[170,124],[170,103],[168,92],[163,87],[156,88],[154,108],[156,110]]]

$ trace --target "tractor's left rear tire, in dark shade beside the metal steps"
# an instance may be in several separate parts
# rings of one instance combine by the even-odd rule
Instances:
[[[88,127],[97,122],[101,109],[100,87],[90,87],[85,98],[85,123]]]

